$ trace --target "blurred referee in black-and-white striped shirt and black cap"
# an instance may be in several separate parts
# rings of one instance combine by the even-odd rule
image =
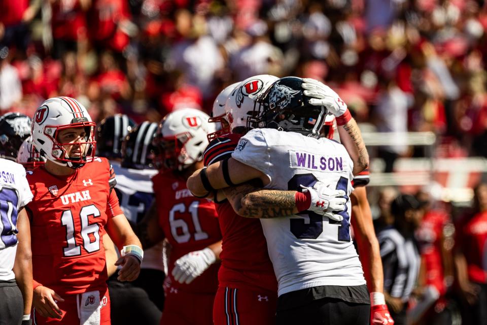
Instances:
[[[377,234],[384,295],[396,325],[406,324],[407,301],[420,270],[420,253],[414,240],[414,230],[423,217],[419,207],[413,196],[399,195],[391,203],[393,223]]]

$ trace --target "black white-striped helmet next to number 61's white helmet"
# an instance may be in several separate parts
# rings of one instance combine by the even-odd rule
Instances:
[[[133,169],[154,168],[156,148],[152,140],[157,131],[157,123],[144,121],[135,126],[122,143],[122,167]]]

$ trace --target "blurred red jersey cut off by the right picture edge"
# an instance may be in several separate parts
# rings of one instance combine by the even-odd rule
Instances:
[[[470,281],[487,283],[487,212],[474,215],[463,226],[455,242],[461,245]]]

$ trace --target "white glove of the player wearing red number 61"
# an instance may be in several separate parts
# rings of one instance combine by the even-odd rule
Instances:
[[[172,277],[179,283],[189,284],[216,261],[217,257],[210,248],[189,252],[174,263]]]

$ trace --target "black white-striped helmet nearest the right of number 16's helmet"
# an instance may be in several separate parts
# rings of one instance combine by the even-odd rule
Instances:
[[[125,114],[103,119],[96,128],[96,155],[108,159],[122,158],[122,142],[135,127]]]

